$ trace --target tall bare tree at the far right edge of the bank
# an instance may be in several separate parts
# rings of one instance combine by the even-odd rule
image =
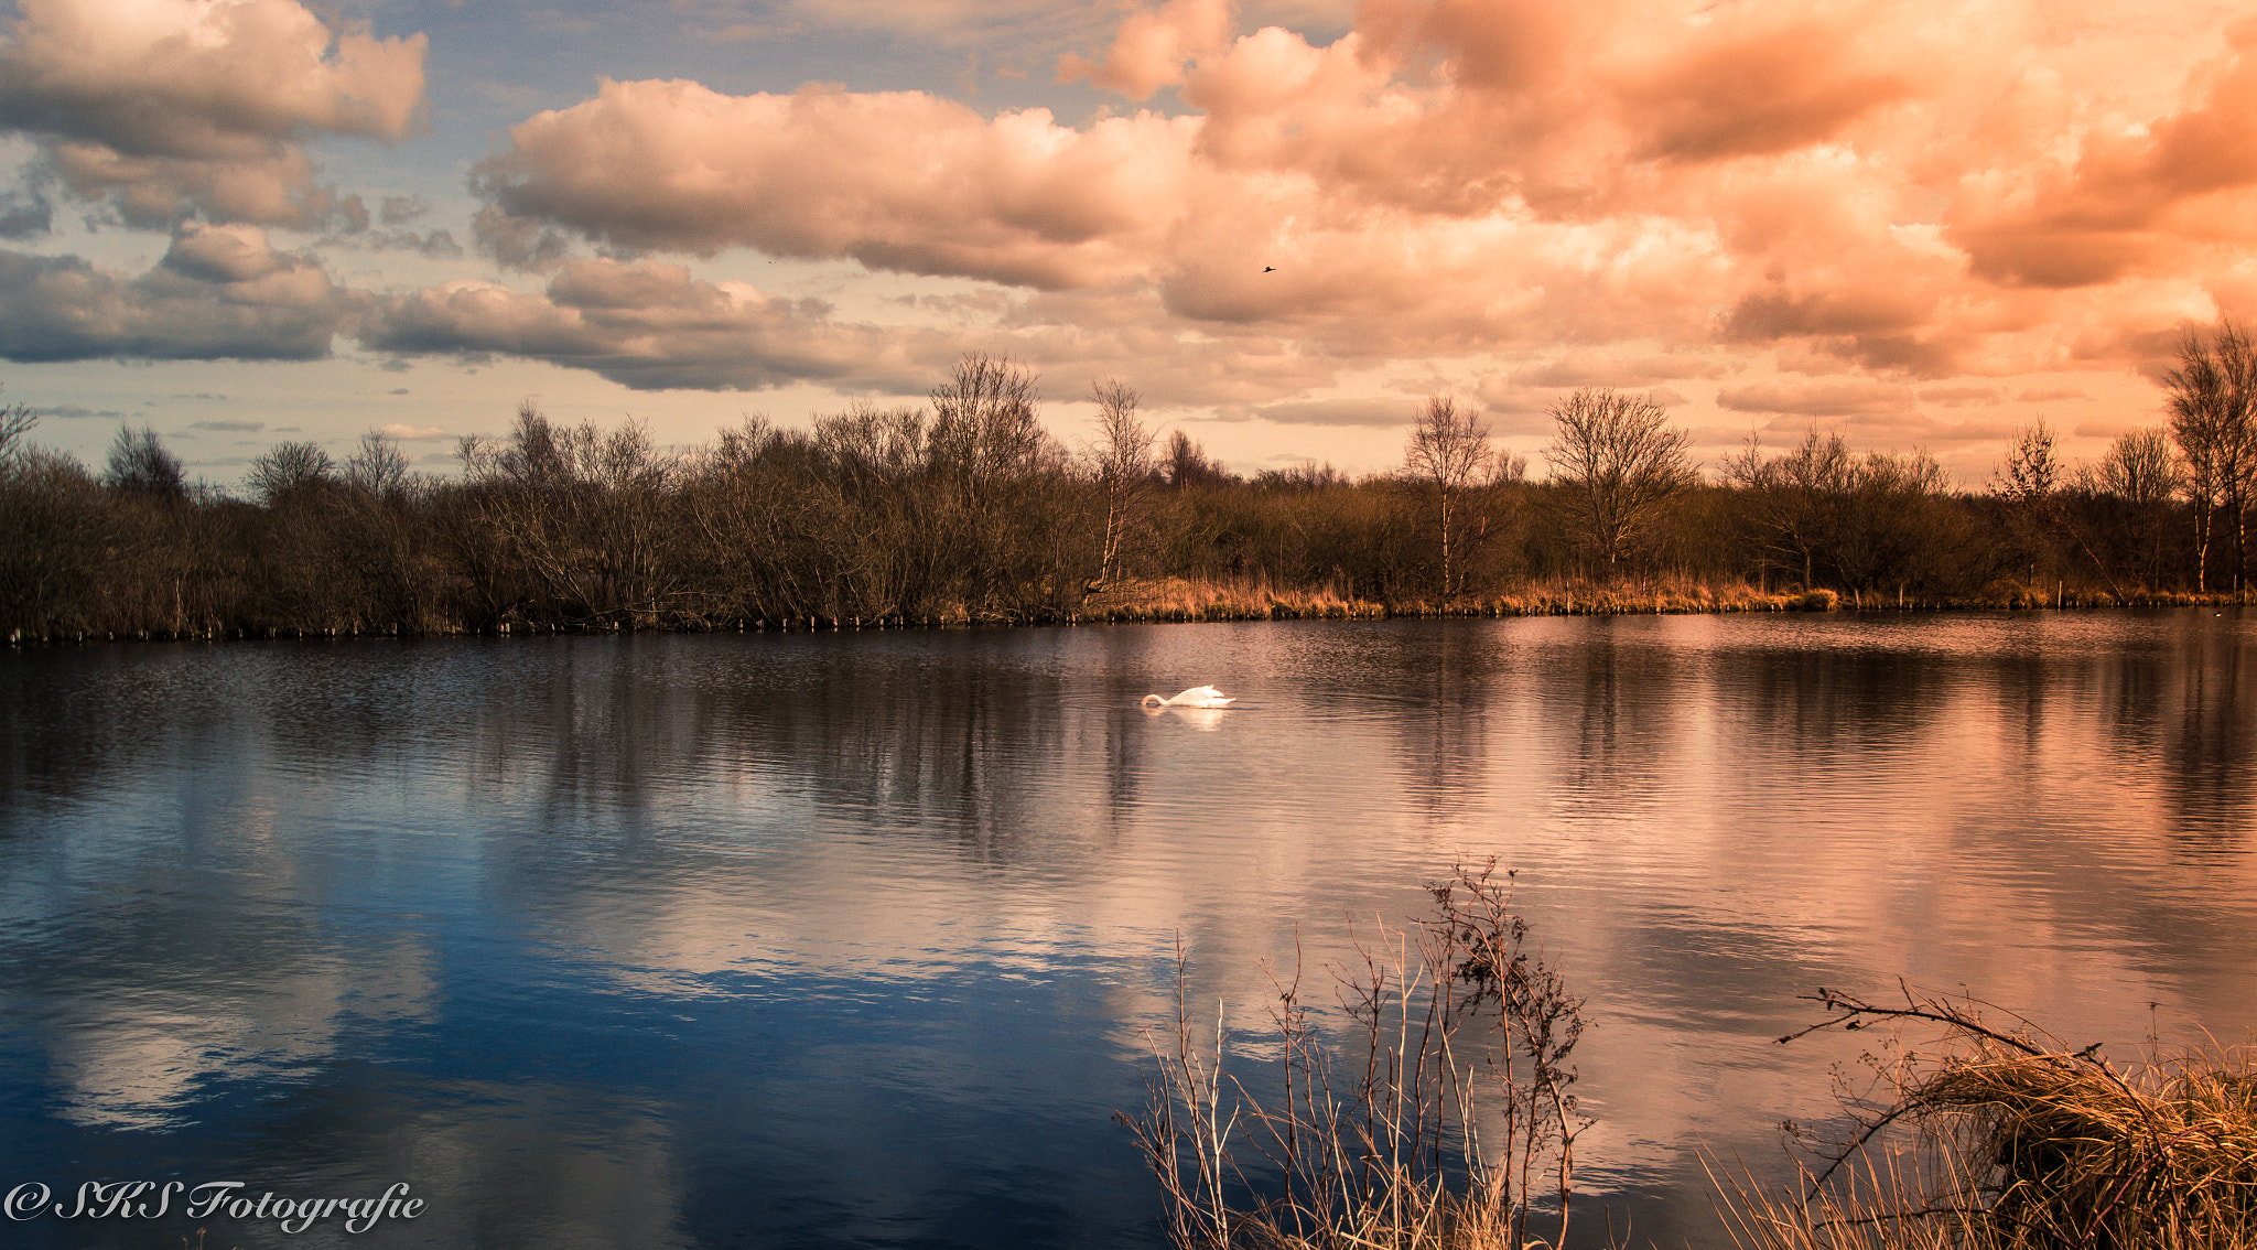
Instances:
[[[2210,548],[2216,512],[2234,526],[2234,593],[2241,591],[2250,478],[2257,476],[2257,350],[2225,320],[2205,341],[2187,334],[2178,368],[2162,377],[2169,390],[2171,438],[2185,456],[2183,487],[2194,503],[2194,589],[2210,589]]]

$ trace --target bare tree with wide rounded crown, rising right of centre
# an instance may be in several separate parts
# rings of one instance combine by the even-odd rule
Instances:
[[[1650,395],[1582,388],[1553,404],[1551,415],[1555,431],[1544,458],[1553,481],[1566,487],[1569,512],[1591,555],[1614,575],[1630,544],[1693,487],[1686,456],[1693,435],[1668,429]]]

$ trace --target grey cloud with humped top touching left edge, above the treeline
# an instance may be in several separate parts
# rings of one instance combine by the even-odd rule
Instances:
[[[0,250],[0,359],[314,361],[352,300],[253,226],[190,221],[140,278]]]

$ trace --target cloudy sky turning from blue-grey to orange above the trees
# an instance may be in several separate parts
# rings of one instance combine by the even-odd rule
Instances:
[[[0,0],[0,402],[214,485],[526,399],[697,447],[966,352],[1402,463],[1652,393],[1979,487],[2257,316],[2257,5]]]

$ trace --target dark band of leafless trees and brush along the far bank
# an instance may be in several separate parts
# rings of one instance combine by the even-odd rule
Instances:
[[[1099,384],[1099,438],[1070,451],[1038,422],[1034,377],[991,356],[923,406],[808,431],[747,420],[697,451],[530,404],[503,438],[460,444],[458,478],[409,472],[379,435],[341,463],[284,442],[241,496],[192,487],[151,431],[120,431],[88,469],[32,444],[34,415],[11,408],[0,634],[1043,623],[1183,584],[1239,587],[1255,611],[1311,596],[1463,611],[1530,584],[1853,605],[2239,593],[2252,361],[2232,327],[2189,338],[2167,431],[2067,469],[2040,426],[1982,492],[1923,454],[1821,433],[1702,478],[1652,399],[1609,390],[1553,408],[1546,481],[1447,397],[1393,474],[1244,478],[1183,431],[1158,442],[1122,384]]]

